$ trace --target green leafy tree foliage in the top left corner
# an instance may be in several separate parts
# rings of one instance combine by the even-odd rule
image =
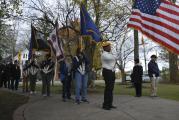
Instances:
[[[2,0],[0,2],[0,56],[2,57],[5,53],[10,53],[15,41],[12,37],[13,33],[10,25],[7,25],[6,21],[11,21],[17,18],[21,14],[20,6],[21,0]],[[12,53],[12,52],[11,52]]]

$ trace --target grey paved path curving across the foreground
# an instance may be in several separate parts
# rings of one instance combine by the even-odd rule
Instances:
[[[14,113],[14,120],[178,120],[179,102],[160,98],[115,96],[117,109],[101,109],[102,95],[89,95],[90,103],[62,102],[60,95],[31,96]]]

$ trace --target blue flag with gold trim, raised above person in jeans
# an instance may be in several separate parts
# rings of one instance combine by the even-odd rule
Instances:
[[[95,40],[96,42],[100,42],[102,40],[101,33],[91,19],[84,5],[81,5],[80,17],[81,35],[91,35],[93,40]]]

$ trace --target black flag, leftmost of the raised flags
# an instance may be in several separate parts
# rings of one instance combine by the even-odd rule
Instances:
[[[37,31],[37,29],[31,25],[31,38],[30,38],[30,47],[29,47],[29,59],[32,56],[33,51],[48,51],[50,47],[48,46],[47,41],[42,33]]]

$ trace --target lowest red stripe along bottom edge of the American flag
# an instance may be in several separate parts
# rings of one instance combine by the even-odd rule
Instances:
[[[151,40],[159,43],[160,45],[166,47],[167,49],[169,49],[170,51],[172,52],[175,52],[177,54],[179,54],[179,50],[176,49],[175,47],[172,47],[171,45],[169,45],[168,43],[164,42],[164,41],[161,41],[160,39],[156,38],[155,36],[151,35],[150,33],[148,32],[145,32],[142,30],[142,28],[140,26],[137,26],[137,25],[133,25],[133,24],[128,24],[128,27],[131,27],[131,28],[134,28],[134,29],[137,29],[139,31],[141,31],[144,35],[146,35],[147,37],[149,37]]]

